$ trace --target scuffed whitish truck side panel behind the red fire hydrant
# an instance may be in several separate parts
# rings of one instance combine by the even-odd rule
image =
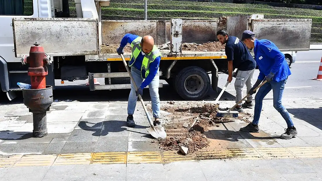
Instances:
[[[29,55],[40,43],[51,56],[98,54],[98,27],[95,19],[14,18],[16,57]]]

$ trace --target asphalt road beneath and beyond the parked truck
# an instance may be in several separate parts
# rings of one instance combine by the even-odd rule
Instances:
[[[317,77],[317,71],[320,65],[320,59],[322,57],[322,50],[314,51],[300,51],[297,53],[296,63],[291,65],[292,75],[289,76],[287,81],[283,98],[321,98],[322,96],[322,81],[311,80]],[[256,70],[253,82],[256,82],[259,71]],[[104,79],[98,80],[101,84],[104,84]],[[220,74],[218,87],[221,91],[221,87],[226,83],[227,75]],[[166,84],[159,89],[160,99],[166,100],[182,100],[182,98],[175,93],[175,91]],[[127,101],[129,90],[102,90],[102,91],[89,91],[88,86],[84,86],[86,81],[65,82],[65,86],[56,86],[54,90],[54,100],[78,100],[78,101]],[[233,82],[227,87],[226,92],[223,94],[221,100],[228,99],[233,100],[235,94]],[[61,85],[60,80],[56,80],[56,85]],[[76,85],[76,86],[75,86]],[[246,88],[246,87],[245,87]],[[246,93],[246,91],[245,91]],[[22,94],[20,97],[14,99],[14,102],[22,102]],[[209,96],[205,97],[205,100],[213,100],[218,93],[210,91]],[[272,98],[272,96],[267,96]],[[143,99],[150,100],[148,89],[143,92]],[[7,100],[2,102],[9,103]]]

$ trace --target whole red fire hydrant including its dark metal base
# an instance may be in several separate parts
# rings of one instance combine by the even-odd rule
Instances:
[[[33,136],[41,138],[48,135],[46,112],[53,102],[52,86],[46,86],[46,65],[51,64],[51,59],[39,43],[33,45],[29,56],[24,55],[21,58],[22,64],[30,65],[28,75],[31,77],[31,89],[23,89],[22,92],[24,105],[33,113]]]

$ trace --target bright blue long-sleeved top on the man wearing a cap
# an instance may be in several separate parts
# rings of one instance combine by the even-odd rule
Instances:
[[[255,60],[260,70],[259,80],[264,80],[270,72],[275,74],[273,80],[277,82],[291,75],[291,70],[285,61],[285,55],[273,42],[266,39],[256,39],[254,45]]]

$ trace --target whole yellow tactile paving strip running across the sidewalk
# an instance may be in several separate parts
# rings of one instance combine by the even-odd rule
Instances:
[[[170,163],[205,159],[272,159],[272,158],[322,158],[322,147],[248,148],[197,151],[186,156],[175,151],[98,152],[48,155],[12,155],[0,158],[0,167]]]

